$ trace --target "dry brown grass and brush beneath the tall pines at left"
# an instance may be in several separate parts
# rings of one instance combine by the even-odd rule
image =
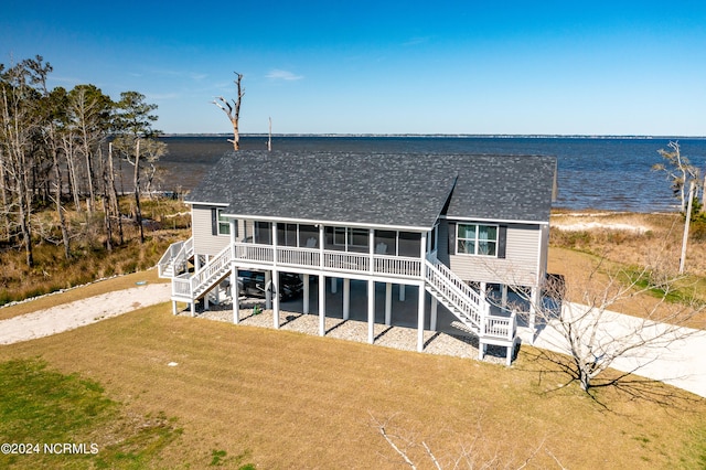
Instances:
[[[122,203],[128,213],[130,201],[125,199]],[[101,214],[69,211],[66,214],[72,234],[69,260],[64,257],[63,245],[55,244],[61,242],[61,231],[54,211],[36,212],[32,218],[36,238],[34,267],[26,266],[24,253],[17,246],[0,245],[0,306],[154,266],[170,243],[190,236],[185,228],[189,215],[179,215],[184,209],[180,201],[143,201],[145,217],[156,221],[146,226],[146,243],[138,242],[138,227],[126,220],[125,243],[117,245],[115,227],[116,245],[111,252],[106,249]]]

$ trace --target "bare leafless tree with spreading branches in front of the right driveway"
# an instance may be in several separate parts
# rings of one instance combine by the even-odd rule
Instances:
[[[599,258],[584,282],[574,285],[563,277],[549,277],[544,296],[536,301],[517,290],[520,300],[513,306],[534,312],[546,345],[564,354],[545,356],[587,393],[629,382],[631,374],[654,361],[664,348],[698,331],[685,327],[706,307],[685,278],[661,269],[659,263],[641,269],[607,265]],[[639,317],[617,313],[627,305],[640,306]],[[624,372],[606,374],[618,362]]]

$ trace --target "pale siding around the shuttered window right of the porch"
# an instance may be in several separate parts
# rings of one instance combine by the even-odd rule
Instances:
[[[505,258],[449,254],[448,224],[439,231],[438,258],[466,281],[535,286],[544,274],[539,225],[506,224]],[[451,253],[456,247],[451,247]],[[546,263],[546,261],[545,261]]]

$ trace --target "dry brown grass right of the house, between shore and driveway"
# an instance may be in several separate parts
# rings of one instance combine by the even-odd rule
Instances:
[[[560,229],[560,226],[579,224],[587,228]],[[592,227],[588,224],[593,224]],[[599,225],[599,226],[596,226]],[[600,226],[602,225],[602,226]],[[621,228],[610,227],[621,226]],[[641,228],[641,232],[624,228]],[[564,275],[571,286],[574,301],[581,301],[580,293],[601,289],[609,274],[619,270],[650,270],[677,278],[683,222],[678,214],[635,213],[557,213],[552,217],[548,271]],[[685,297],[706,302],[706,243],[689,241],[686,276],[678,281]],[[592,276],[590,282],[589,276]],[[651,295],[640,295],[611,307],[637,317],[644,317],[657,303]],[[677,303],[665,305],[656,318],[667,318],[683,309]],[[706,329],[706,312],[689,319],[686,325]]]

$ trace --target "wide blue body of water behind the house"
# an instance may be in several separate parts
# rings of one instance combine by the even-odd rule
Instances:
[[[233,146],[226,136],[165,137],[169,154],[160,160],[167,170],[164,190],[189,190]],[[676,140],[676,139],[672,139]],[[667,138],[570,137],[272,137],[274,150],[346,151],[374,153],[490,153],[547,154],[558,162],[558,200],[555,207],[570,210],[675,211],[664,172],[652,171],[662,161],[657,150],[670,150]],[[706,139],[678,139],[682,154],[706,170]],[[265,150],[266,136],[240,139],[244,150]],[[702,173],[703,174],[703,173]]]

